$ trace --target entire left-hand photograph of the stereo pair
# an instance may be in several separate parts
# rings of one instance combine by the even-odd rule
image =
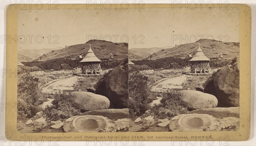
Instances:
[[[18,12],[18,132],[129,131],[127,20],[118,11]]]

